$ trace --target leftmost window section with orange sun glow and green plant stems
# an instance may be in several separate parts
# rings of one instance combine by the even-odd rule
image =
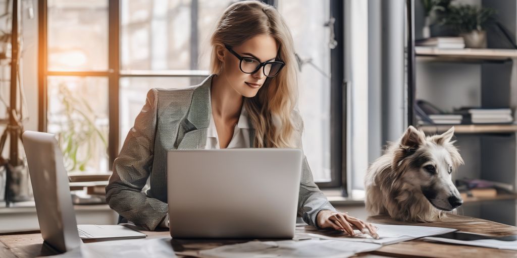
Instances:
[[[108,168],[108,1],[49,0],[45,128],[69,171]]]

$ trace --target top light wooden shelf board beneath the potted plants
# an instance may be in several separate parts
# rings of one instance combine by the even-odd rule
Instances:
[[[517,58],[517,50],[511,49],[438,49],[436,47],[416,46],[417,57],[431,57],[440,60],[496,60],[504,61]]]

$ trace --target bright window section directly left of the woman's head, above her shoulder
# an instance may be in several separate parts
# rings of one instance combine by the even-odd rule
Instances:
[[[209,75],[209,37],[219,15],[233,1],[120,3],[119,132],[123,142],[150,88],[186,87]]]

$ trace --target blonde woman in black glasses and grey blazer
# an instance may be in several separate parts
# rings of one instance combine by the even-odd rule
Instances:
[[[231,5],[211,45],[212,75],[189,88],[151,89],[115,159],[107,201],[148,230],[168,227],[168,150],[302,148],[293,40],[278,11],[257,1]],[[332,207],[305,157],[301,172],[298,214],[305,222],[350,235],[353,227],[375,232],[370,223]]]

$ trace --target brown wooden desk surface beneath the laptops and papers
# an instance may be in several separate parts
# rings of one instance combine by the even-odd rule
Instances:
[[[461,231],[491,234],[495,236],[516,235],[517,227],[500,224],[488,220],[448,215],[442,221],[432,223],[402,223],[385,216],[373,216],[370,222],[423,225],[430,227],[454,228]],[[297,228],[300,230],[300,228]],[[303,228],[301,228],[303,230]],[[169,231],[150,232],[143,231],[148,238],[169,236]],[[242,243],[246,240],[172,240],[171,245],[176,251],[194,251],[218,247],[225,244]],[[0,257],[36,257],[50,254],[49,250],[42,248],[43,239],[39,232],[21,232],[17,234],[0,235]],[[360,257],[517,257],[517,251],[497,250],[483,247],[449,245],[431,243],[423,240],[406,241],[399,244],[382,247],[374,252],[359,254]]]

